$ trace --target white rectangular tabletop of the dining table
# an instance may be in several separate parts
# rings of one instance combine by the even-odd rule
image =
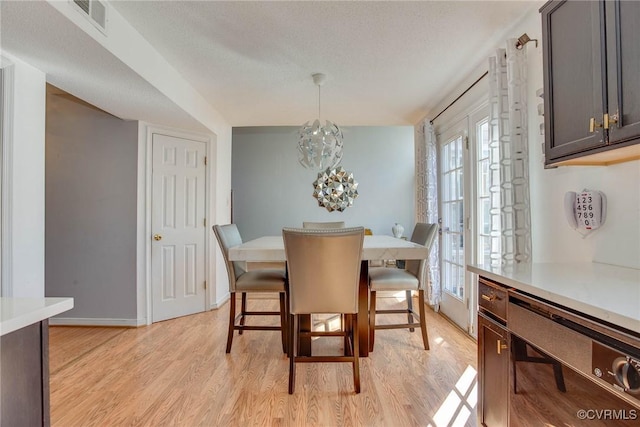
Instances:
[[[395,237],[364,236],[362,259],[422,259],[429,255],[425,246]],[[282,236],[265,236],[229,248],[231,261],[286,261]]]

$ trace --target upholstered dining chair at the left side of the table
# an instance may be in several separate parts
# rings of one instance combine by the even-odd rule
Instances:
[[[227,274],[229,276],[229,332],[227,333],[227,353],[231,352],[234,331],[280,331],[282,336],[282,351],[287,352],[287,315],[285,299],[286,272],[283,269],[264,268],[247,271],[242,263],[229,261],[229,248],[240,245],[242,237],[235,224],[214,225],[220,250],[224,256]],[[236,316],[236,293],[241,294],[240,313]],[[247,294],[277,292],[280,297],[280,311],[249,311],[247,310]],[[280,316],[280,326],[247,325],[247,316]]]

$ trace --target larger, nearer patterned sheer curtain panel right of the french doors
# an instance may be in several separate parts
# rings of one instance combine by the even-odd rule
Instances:
[[[489,58],[492,264],[531,260],[526,51],[515,46]]]

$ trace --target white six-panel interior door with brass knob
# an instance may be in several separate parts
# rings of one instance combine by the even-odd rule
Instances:
[[[153,134],[153,322],[205,309],[204,142]]]

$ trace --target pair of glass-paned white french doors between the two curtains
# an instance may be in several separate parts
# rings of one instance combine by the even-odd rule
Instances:
[[[480,106],[443,131],[439,141],[440,310],[475,335],[476,283],[467,264],[490,250],[488,109]]]

